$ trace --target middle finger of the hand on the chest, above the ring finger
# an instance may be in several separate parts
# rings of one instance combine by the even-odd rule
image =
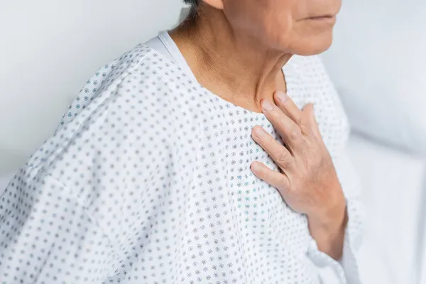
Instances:
[[[268,99],[262,101],[263,114],[271,121],[274,128],[280,133],[284,143],[293,151],[300,146],[302,131],[295,121],[286,116],[283,111]]]

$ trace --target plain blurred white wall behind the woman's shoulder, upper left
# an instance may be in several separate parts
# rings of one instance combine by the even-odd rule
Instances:
[[[178,21],[181,0],[0,0],[0,175],[25,163],[97,70]]]

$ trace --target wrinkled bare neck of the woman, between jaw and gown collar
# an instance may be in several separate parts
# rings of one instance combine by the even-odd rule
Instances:
[[[221,11],[209,13],[194,23],[182,23],[170,36],[200,84],[229,102],[261,112],[261,99],[273,102],[276,90],[286,91],[281,70],[291,55],[231,30]]]

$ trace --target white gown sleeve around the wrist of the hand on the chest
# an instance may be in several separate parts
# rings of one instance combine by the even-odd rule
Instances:
[[[318,266],[331,267],[337,274],[339,283],[360,284],[357,252],[361,245],[365,219],[364,207],[359,196],[361,187],[346,148],[334,157],[334,166],[344,191],[349,216],[344,235],[343,255],[339,261],[335,261],[326,253],[319,251],[315,239],[312,239],[309,256]]]

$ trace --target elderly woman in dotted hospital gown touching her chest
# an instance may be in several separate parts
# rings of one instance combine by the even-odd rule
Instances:
[[[102,67],[0,200],[1,283],[359,283],[339,0],[187,0]]]

